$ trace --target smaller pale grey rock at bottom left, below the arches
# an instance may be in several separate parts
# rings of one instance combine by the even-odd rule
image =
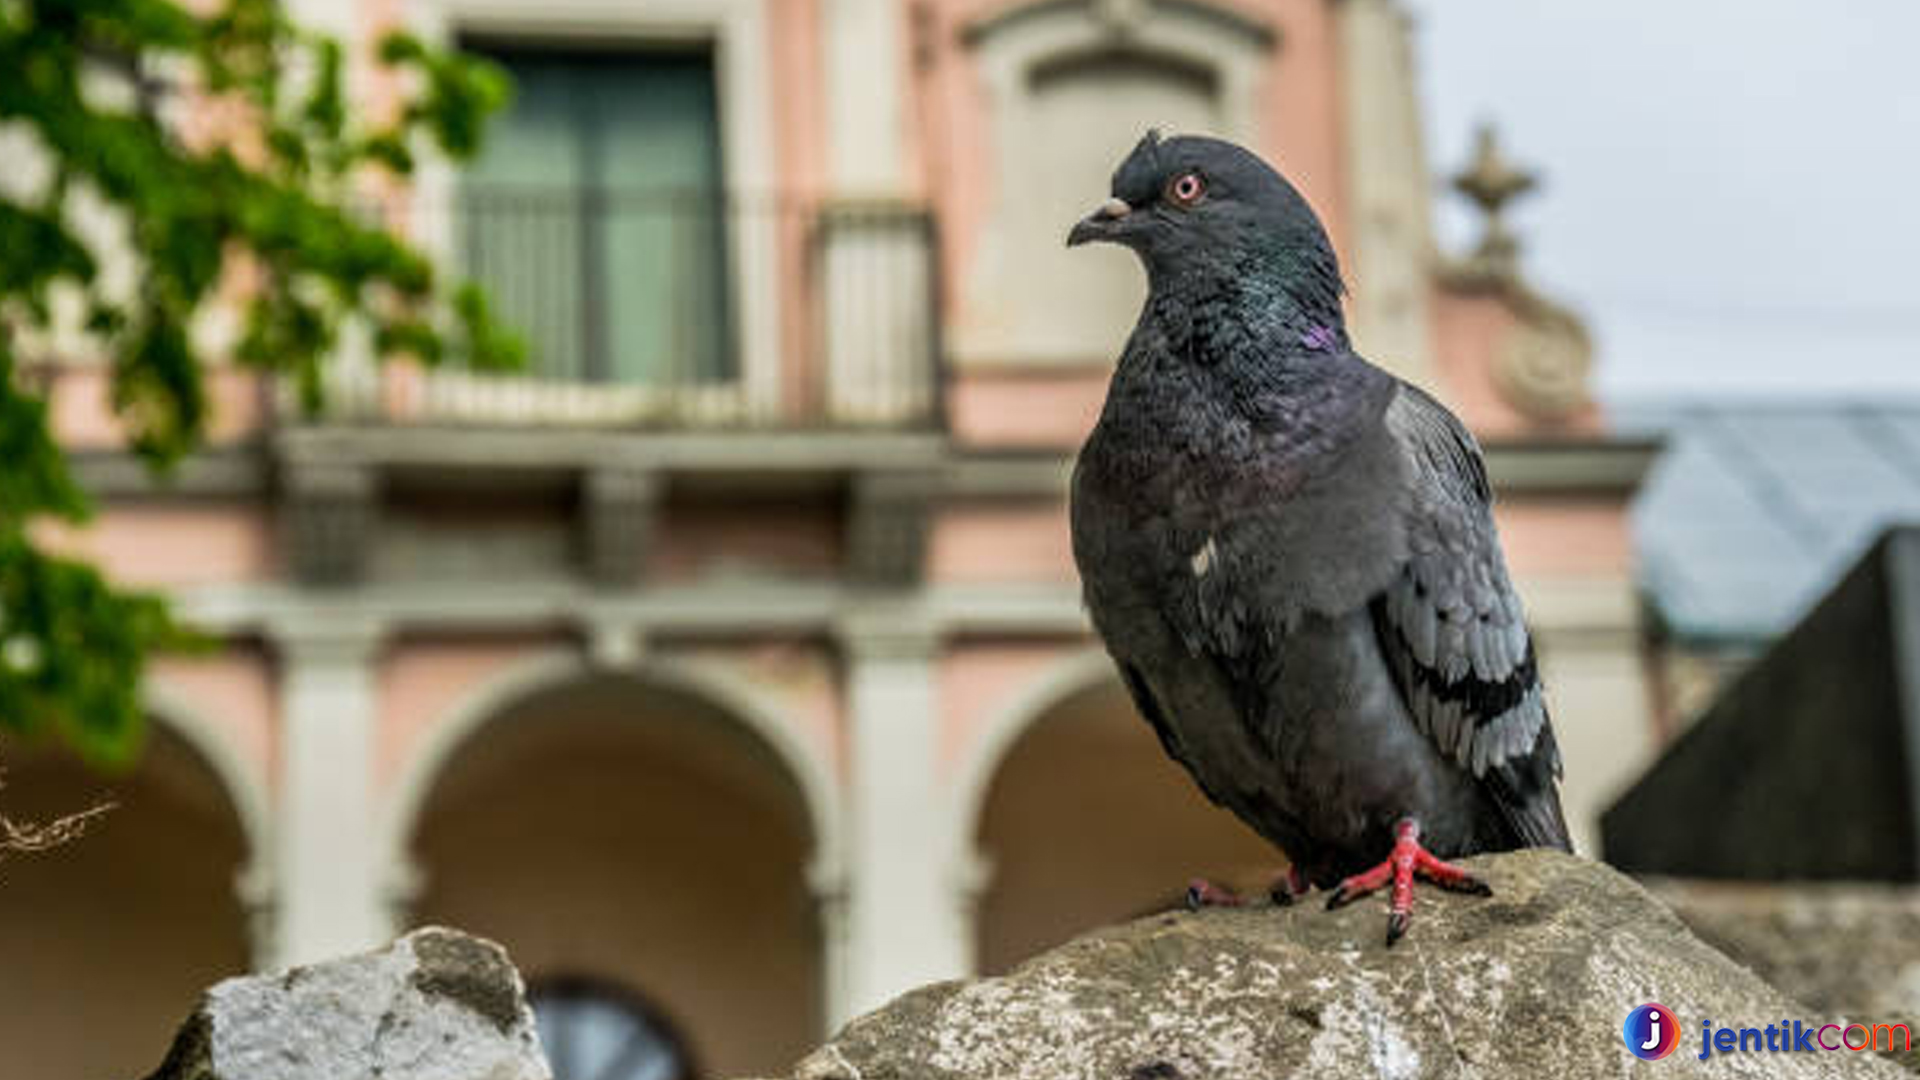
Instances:
[[[219,982],[148,1080],[551,1080],[520,972],[428,926],[372,953]]]

